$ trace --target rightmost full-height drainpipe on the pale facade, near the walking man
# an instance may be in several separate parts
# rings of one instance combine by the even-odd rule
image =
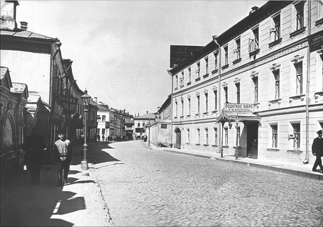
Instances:
[[[307,15],[307,42],[308,38],[311,35],[311,1],[308,2],[308,15]],[[304,164],[308,163],[308,124],[309,124],[309,112],[308,112],[308,103],[310,102],[309,98],[309,72],[310,72],[310,51],[309,51],[309,42],[307,46],[307,76],[306,76],[306,157],[303,161]]]

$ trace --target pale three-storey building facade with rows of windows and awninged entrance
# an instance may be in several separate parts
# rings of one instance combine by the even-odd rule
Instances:
[[[172,68],[175,146],[314,162],[322,12],[321,1],[268,1]]]

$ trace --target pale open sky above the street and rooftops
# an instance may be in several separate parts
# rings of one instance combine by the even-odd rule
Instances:
[[[16,21],[60,40],[81,90],[143,115],[172,92],[171,45],[205,46],[266,2],[19,1]]]

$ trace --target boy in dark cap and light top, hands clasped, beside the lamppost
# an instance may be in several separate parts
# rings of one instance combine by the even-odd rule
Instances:
[[[64,170],[64,184],[67,184],[69,164],[72,160],[72,143],[65,139],[63,130],[58,130],[58,140],[54,144],[55,156],[57,160],[57,187],[62,186],[62,176]]]

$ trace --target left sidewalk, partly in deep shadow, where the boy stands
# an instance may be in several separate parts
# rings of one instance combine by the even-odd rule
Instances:
[[[56,165],[43,165],[39,185],[29,183],[26,170],[2,182],[0,225],[113,226],[97,179],[88,176],[89,171],[82,173],[82,149],[73,144],[70,183],[63,187],[56,186]]]

